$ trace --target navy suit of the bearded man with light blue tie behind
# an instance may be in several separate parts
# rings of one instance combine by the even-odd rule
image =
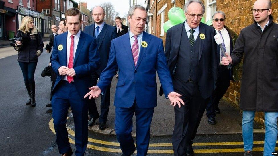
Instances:
[[[90,26],[86,26],[84,32],[95,37],[95,24]],[[97,79],[100,77],[100,73],[106,67],[108,58],[109,58],[109,49],[111,45],[112,39],[117,37],[117,29],[113,26],[104,24],[101,32],[97,36],[97,44],[98,51],[100,55],[101,65],[97,72],[92,73],[93,86],[97,84]],[[107,87],[105,91],[103,91],[104,95],[101,97],[101,113],[99,116],[99,112],[97,111],[97,106],[95,103],[95,99],[91,100],[91,104],[89,105],[89,115],[91,118],[99,118],[99,122],[106,123],[107,115],[110,106],[110,86]]]

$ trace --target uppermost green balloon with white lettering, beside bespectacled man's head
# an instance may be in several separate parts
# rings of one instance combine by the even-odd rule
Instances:
[[[180,7],[173,7],[168,11],[168,17],[173,23],[182,23],[185,21],[183,9]]]

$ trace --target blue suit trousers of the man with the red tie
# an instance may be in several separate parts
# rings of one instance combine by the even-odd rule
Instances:
[[[66,122],[71,107],[75,128],[75,155],[84,155],[88,143],[88,104],[79,96],[74,82],[62,80],[51,103],[59,153],[66,153],[70,149]]]

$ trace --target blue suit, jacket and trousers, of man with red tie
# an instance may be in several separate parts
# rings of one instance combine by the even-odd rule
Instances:
[[[75,126],[75,154],[84,155],[88,140],[89,99],[83,97],[89,92],[88,88],[93,84],[90,73],[99,68],[99,53],[97,52],[96,39],[81,32],[73,61],[76,76],[71,83],[62,80],[64,76],[59,75],[58,68],[68,66],[67,44],[71,43],[67,43],[67,34],[68,32],[65,32],[54,38],[50,60],[53,70],[58,75],[53,87],[52,117],[59,153],[66,153],[70,149],[66,122],[69,106],[71,107]],[[61,45],[63,46],[62,50],[61,48],[58,50],[58,46],[61,47]]]

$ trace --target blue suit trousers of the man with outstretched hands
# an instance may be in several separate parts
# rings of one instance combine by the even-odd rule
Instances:
[[[134,101],[130,108],[115,108],[115,132],[124,155],[135,151],[134,140],[131,136],[132,117],[136,116],[136,148],[137,156],[147,155],[150,142],[150,126],[154,108],[139,108]]]

